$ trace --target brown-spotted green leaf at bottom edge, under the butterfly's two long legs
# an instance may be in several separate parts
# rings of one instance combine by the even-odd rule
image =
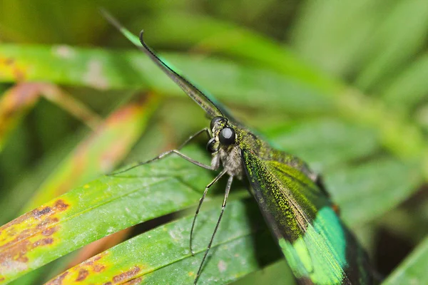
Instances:
[[[189,250],[192,215],[108,249],[47,284],[58,284],[60,280],[63,284],[81,284],[81,281],[105,284],[118,279],[122,282],[138,279],[146,284],[167,284],[170,281],[191,284],[213,234],[219,210],[220,207],[216,207],[198,216],[194,236],[195,257]],[[198,284],[228,284],[260,269],[272,256],[279,257],[279,252],[265,229],[255,202],[248,199],[246,202],[230,202]]]

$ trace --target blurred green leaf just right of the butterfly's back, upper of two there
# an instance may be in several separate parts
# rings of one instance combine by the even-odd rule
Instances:
[[[300,120],[266,133],[275,145],[302,157],[318,172],[367,157],[380,148],[372,130],[333,118]]]

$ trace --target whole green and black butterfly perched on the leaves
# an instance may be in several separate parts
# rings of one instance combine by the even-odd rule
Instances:
[[[298,283],[375,283],[367,254],[338,217],[338,209],[322,185],[320,176],[312,172],[299,158],[271,147],[269,143],[235,120],[222,105],[170,68],[146,45],[143,41],[143,32],[138,41],[105,11],[103,14],[211,118],[210,128],[200,130],[185,142],[201,133],[208,133],[210,140],[207,150],[213,157],[211,165],[203,165],[179,150],[164,152],[153,159],[158,160],[175,153],[208,170],[218,170],[220,165],[223,167],[213,182],[205,187],[195,219],[208,188],[223,175],[229,176],[220,217],[201,261],[195,283],[217,232],[235,178],[248,179],[250,182],[250,192],[258,202],[265,221],[277,239]],[[190,232],[190,249],[195,219]]]

